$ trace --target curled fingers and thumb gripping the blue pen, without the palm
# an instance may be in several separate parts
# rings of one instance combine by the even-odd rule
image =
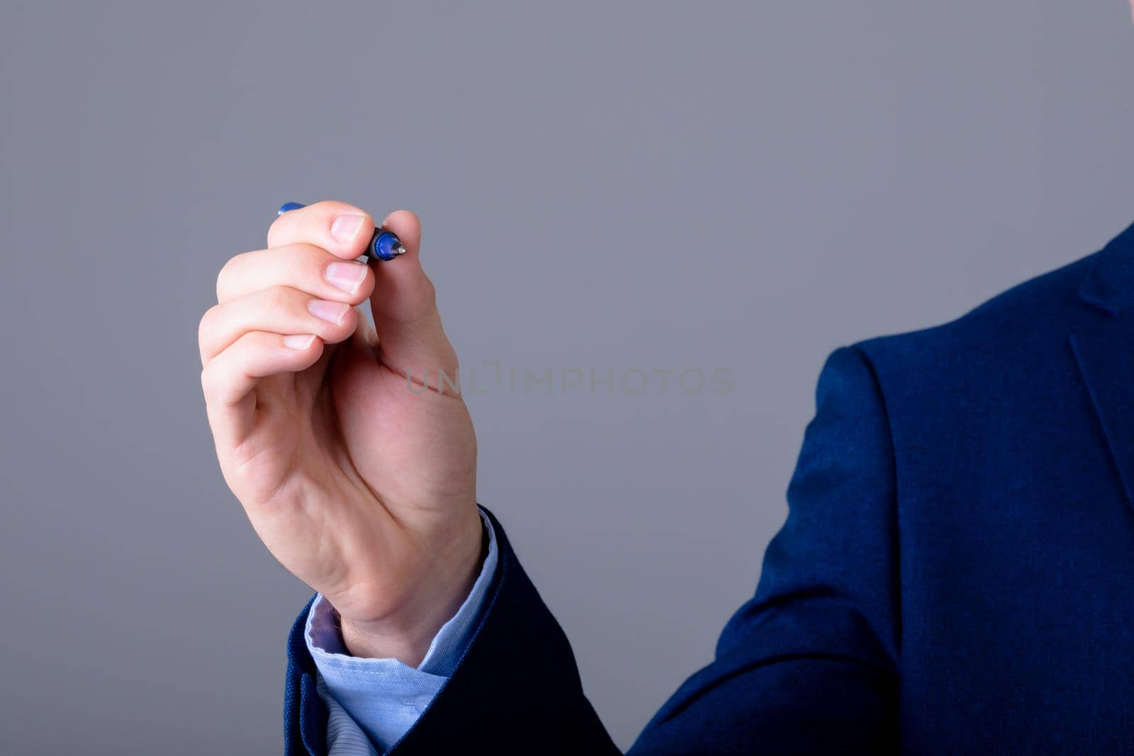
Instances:
[[[348,338],[358,323],[356,312],[344,312],[336,303],[354,306],[367,297],[387,366],[435,383],[442,371],[457,379],[457,357],[418,257],[421,223],[413,213],[397,211],[382,224],[407,250],[390,262],[355,260],[373,235],[369,214],[346,203],[320,202],[284,213],[268,232],[268,249],[237,255],[225,265],[217,279],[219,305],[202,318],[200,346],[208,371],[228,366],[249,379],[228,376],[234,382],[226,400],[235,401],[255,385],[259,368],[242,367],[229,354],[238,352],[248,334],[263,333],[277,347],[281,334],[312,334],[321,351],[321,345]],[[298,364],[294,354],[285,355],[287,365]],[[315,359],[285,369],[305,369]],[[213,368],[215,363],[220,367]]]

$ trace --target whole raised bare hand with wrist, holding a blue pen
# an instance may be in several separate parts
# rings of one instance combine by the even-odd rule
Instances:
[[[456,383],[457,358],[417,218],[398,211],[383,227],[407,253],[367,265],[355,258],[374,222],[357,207],[280,215],[268,248],[217,279],[201,382],[225,481],[260,538],[330,601],[353,654],[416,666],[480,567],[476,440],[437,380]],[[355,308],[367,297],[376,346]]]

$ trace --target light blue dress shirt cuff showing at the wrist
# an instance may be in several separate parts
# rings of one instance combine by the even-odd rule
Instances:
[[[305,637],[318,669],[316,689],[327,704],[329,756],[378,756],[387,750],[409,731],[457,669],[496,574],[496,533],[483,512],[481,519],[489,535],[481,574],[416,669],[397,659],[352,656],[330,603],[320,595],[311,605]]]

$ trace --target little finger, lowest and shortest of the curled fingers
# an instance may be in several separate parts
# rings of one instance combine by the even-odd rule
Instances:
[[[261,379],[307,369],[322,354],[323,342],[310,333],[248,331],[201,372],[210,413],[239,404]]]

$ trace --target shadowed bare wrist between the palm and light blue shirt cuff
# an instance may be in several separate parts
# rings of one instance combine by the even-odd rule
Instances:
[[[342,643],[353,656],[421,664],[438,631],[468,597],[484,563],[488,533],[479,511],[475,518],[475,529],[429,555],[429,574],[396,611],[378,619],[339,617]]]

